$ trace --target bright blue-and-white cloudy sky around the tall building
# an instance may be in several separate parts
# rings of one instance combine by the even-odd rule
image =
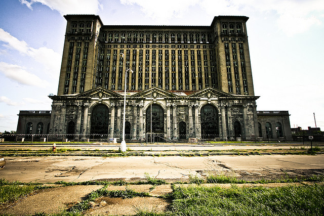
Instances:
[[[0,132],[20,110],[51,110],[57,95],[66,14],[104,25],[206,25],[247,16],[257,110],[288,110],[291,127],[324,131],[322,0],[0,0]]]

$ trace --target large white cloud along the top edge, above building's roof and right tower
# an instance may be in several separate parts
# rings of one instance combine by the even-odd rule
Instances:
[[[149,18],[166,21],[182,17],[188,13],[190,7],[199,6],[211,16],[238,15],[250,16],[274,12],[278,28],[288,36],[307,31],[313,25],[321,24],[322,14],[315,14],[324,10],[322,0],[165,0],[156,3],[151,0],[120,0],[124,5],[138,5]]]

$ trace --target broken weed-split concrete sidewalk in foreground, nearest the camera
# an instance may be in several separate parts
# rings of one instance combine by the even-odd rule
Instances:
[[[282,187],[282,186],[303,186],[305,184],[314,183],[270,183],[270,184],[234,184],[238,187]],[[318,183],[316,183],[318,184]],[[322,184],[322,183],[319,183]],[[204,187],[221,187],[230,188],[233,184],[203,184]],[[176,187],[190,187],[196,186],[194,184],[176,185]],[[32,193],[9,206],[0,209],[0,214],[10,215],[31,215],[35,213],[59,213],[67,210],[78,202],[87,199],[87,196],[103,186],[66,186],[49,188],[39,190]],[[129,215],[136,213],[136,209],[151,210],[154,209],[158,212],[166,211],[170,200],[161,198],[167,193],[171,193],[171,185],[127,185],[127,186],[108,186],[108,191],[118,190],[134,190],[136,192],[147,192],[152,197],[134,197],[129,199],[122,199],[116,197],[101,197],[94,202],[90,202],[91,208],[88,209],[85,215]]]

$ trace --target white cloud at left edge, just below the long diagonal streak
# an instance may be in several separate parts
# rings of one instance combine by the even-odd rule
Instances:
[[[0,72],[11,80],[15,80],[20,84],[31,85],[35,87],[45,88],[49,83],[42,80],[38,76],[26,71],[19,65],[8,64],[0,62]]]

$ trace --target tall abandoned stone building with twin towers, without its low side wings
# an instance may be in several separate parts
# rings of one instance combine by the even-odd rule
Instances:
[[[245,16],[210,26],[104,25],[66,15],[50,134],[255,140],[259,137]],[[152,123],[151,123],[152,122]],[[152,135],[152,136],[153,136]]]

